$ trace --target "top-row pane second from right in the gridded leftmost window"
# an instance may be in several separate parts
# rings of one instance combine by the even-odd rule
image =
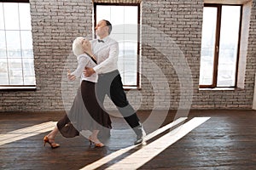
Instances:
[[[20,30],[18,3],[3,3],[6,30]]]

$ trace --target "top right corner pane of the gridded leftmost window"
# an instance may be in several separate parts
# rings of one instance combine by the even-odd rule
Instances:
[[[30,16],[30,4],[19,3],[20,10],[20,30],[32,30],[31,16]]]

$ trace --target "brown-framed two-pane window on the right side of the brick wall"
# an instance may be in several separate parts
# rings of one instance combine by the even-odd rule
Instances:
[[[205,4],[200,88],[236,87],[241,5]]]

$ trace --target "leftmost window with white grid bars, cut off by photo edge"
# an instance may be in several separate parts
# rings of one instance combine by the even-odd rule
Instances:
[[[35,87],[29,3],[0,3],[0,88]]]

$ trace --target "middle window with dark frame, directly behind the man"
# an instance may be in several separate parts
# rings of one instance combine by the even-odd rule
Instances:
[[[119,72],[124,88],[139,87],[139,4],[95,3],[95,25],[109,20],[113,25],[110,34],[119,42]]]

